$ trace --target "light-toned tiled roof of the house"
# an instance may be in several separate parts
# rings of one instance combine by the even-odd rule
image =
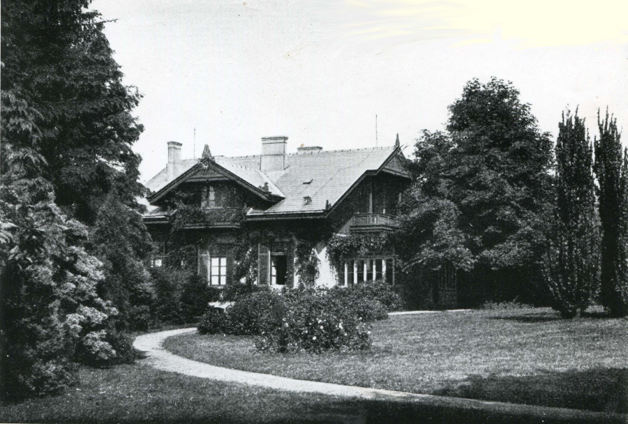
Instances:
[[[283,171],[266,174],[259,170],[259,155],[230,158],[218,156],[215,161],[255,187],[268,182],[271,192],[283,197],[265,211],[253,210],[248,213],[257,216],[323,211],[328,202],[334,205],[366,172],[380,169],[394,151],[394,146],[387,146],[290,153],[286,155]],[[183,160],[179,175],[197,162],[197,159]],[[163,169],[146,185],[150,190],[157,192],[169,182],[166,169]],[[305,197],[309,197],[308,201],[304,200]]]

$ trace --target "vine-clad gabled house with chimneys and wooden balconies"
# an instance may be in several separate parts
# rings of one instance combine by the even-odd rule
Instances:
[[[212,156],[205,146],[202,158],[188,160],[181,160],[180,143],[168,142],[166,167],[147,182],[151,209],[144,222],[158,245],[151,265],[176,257],[215,287],[247,278],[246,263],[252,263],[248,278],[257,285],[294,287],[306,278],[308,264],[317,266],[311,273],[317,286],[393,285],[392,248],[329,252],[331,241],[337,247],[398,227],[396,204],[410,184],[398,137],[394,146],[301,146],[296,153],[287,153],[287,139],[263,137],[255,156]],[[184,210],[186,218],[177,223]],[[249,245],[243,250],[244,240]]]

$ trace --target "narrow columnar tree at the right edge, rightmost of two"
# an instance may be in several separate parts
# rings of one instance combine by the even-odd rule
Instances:
[[[595,138],[595,175],[599,184],[597,194],[601,221],[601,268],[599,301],[615,317],[628,314],[627,275],[625,264],[626,234],[622,226],[625,217],[625,190],[622,190],[622,143],[617,119],[602,120],[597,112],[599,139]],[[623,174],[623,175],[622,175]],[[624,218],[625,219],[625,218]],[[625,259],[623,259],[625,262]]]

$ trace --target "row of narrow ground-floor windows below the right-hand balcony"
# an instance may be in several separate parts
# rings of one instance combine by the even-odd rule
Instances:
[[[338,284],[383,280],[389,285],[395,281],[394,257],[369,257],[342,262],[338,266]]]

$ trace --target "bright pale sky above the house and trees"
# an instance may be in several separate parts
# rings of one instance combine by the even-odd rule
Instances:
[[[125,83],[144,95],[142,180],[204,144],[258,154],[297,146],[411,146],[442,129],[473,77],[511,80],[541,130],[567,105],[591,135],[608,105],[628,128],[625,0],[96,0]],[[622,137],[628,146],[628,133]],[[406,149],[410,156],[412,148]]]

